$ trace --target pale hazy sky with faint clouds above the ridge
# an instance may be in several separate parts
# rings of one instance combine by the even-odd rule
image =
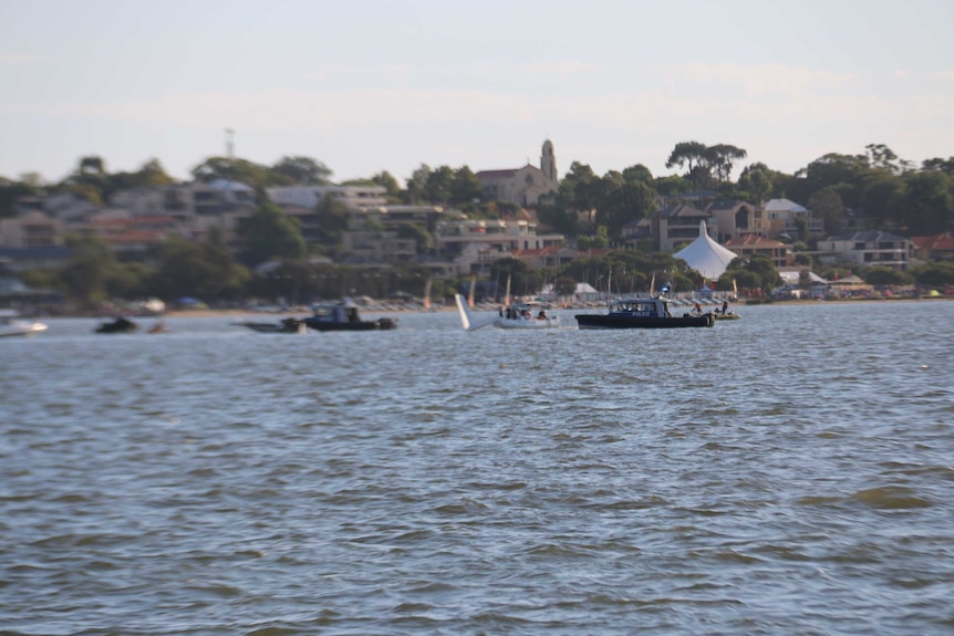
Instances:
[[[226,128],[334,180],[539,165],[548,138],[561,176],[674,174],[688,140],[920,164],[954,156],[954,1],[0,0],[0,175],[185,179]]]

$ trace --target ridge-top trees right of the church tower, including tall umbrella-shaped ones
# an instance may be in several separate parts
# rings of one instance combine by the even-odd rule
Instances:
[[[863,154],[825,155],[794,175],[750,164],[733,181],[728,177],[734,163],[745,156],[744,149],[726,144],[680,143],[666,166],[685,171],[665,177],[654,177],[640,164],[600,177],[590,166],[573,163],[538,213],[567,236],[599,239],[600,228],[605,228],[612,241],[623,225],[649,218],[661,197],[708,190],[709,199],[754,205],[791,199],[821,218],[829,236],[843,230],[849,215],[865,218],[872,229],[905,237],[954,230],[954,157],[914,166],[886,146],[871,144]]]

